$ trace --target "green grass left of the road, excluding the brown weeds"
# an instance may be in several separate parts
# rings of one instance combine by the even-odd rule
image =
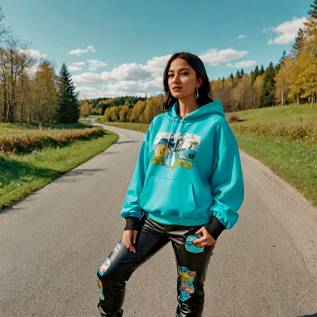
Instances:
[[[10,125],[11,128],[20,128],[18,125]],[[62,128],[62,125],[59,126]],[[91,127],[81,123],[74,126],[77,129],[79,126]],[[71,125],[67,127],[73,128]],[[51,147],[15,157],[0,155],[0,210],[86,162],[117,139],[116,133],[102,130],[92,140],[82,140],[67,146]]]

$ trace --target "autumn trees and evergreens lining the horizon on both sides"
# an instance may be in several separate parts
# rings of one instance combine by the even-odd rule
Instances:
[[[311,4],[309,18],[292,45],[283,51],[277,63],[266,69],[256,66],[250,74],[238,70],[228,78],[210,81],[213,100],[222,101],[225,112],[297,104],[317,95],[317,0]],[[35,76],[30,69],[35,60],[27,44],[8,36],[10,30],[1,21],[0,7],[0,122],[76,122],[82,115],[101,114],[109,121],[149,123],[161,113],[163,95],[123,96],[78,102],[67,67],[59,76],[48,60],[41,62]]]

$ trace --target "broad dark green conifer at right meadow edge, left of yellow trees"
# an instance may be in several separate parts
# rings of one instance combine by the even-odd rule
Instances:
[[[259,93],[258,105],[259,107],[271,106],[274,103],[274,89],[275,89],[275,69],[273,63],[265,70],[263,86]]]

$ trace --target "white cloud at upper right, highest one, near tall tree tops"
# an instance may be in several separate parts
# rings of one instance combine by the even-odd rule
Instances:
[[[285,21],[279,24],[277,27],[271,27],[268,29],[264,28],[263,31],[265,30],[266,33],[267,33],[267,30],[271,30],[272,32],[280,34],[274,39],[270,38],[268,40],[268,45],[288,44],[290,42],[293,42],[295,40],[295,37],[298,33],[299,28],[304,29],[305,26],[303,22],[306,22],[306,21],[307,21],[307,18],[305,16],[301,18],[297,18],[296,16],[294,16],[292,21]]]

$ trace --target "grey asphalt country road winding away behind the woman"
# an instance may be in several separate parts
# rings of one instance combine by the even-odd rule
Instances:
[[[100,317],[96,274],[122,237],[120,210],[144,137],[103,126],[117,142],[1,211],[0,316]],[[317,316],[317,208],[240,154],[244,202],[211,257],[204,317]],[[123,317],[175,316],[176,290],[168,243],[127,282]]]

